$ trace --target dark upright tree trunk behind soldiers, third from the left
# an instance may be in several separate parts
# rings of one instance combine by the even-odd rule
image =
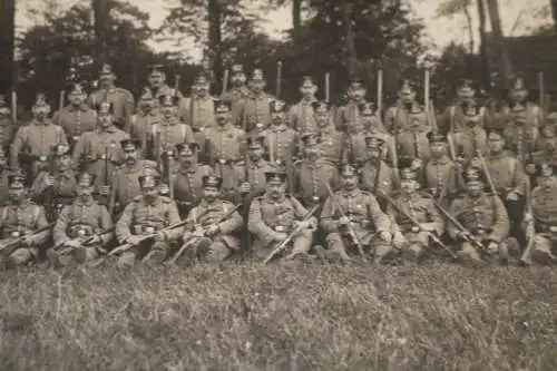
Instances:
[[[221,91],[223,79],[223,50],[222,50],[222,32],[221,32],[221,1],[208,0],[208,46],[211,49],[211,60],[213,77],[216,82],[217,91]]]

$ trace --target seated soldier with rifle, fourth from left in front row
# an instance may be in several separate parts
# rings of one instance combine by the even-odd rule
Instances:
[[[192,243],[192,254],[207,263],[219,263],[241,247],[241,242],[234,233],[242,230],[244,219],[234,205],[221,198],[223,179],[216,176],[203,177],[203,199],[199,206],[194,207],[187,215],[186,225],[194,225],[194,230],[184,232],[184,243]],[[224,218],[224,219],[223,219]],[[192,241],[192,240],[196,240]]]

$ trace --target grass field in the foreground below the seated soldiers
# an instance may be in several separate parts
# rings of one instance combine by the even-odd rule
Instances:
[[[557,370],[549,267],[1,273],[0,370]]]

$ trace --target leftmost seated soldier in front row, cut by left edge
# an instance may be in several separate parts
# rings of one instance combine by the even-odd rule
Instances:
[[[29,201],[26,178],[21,174],[9,177],[10,205],[0,209],[0,230],[2,231],[2,254],[0,260],[4,266],[20,266],[37,260],[39,250],[45,246],[49,236],[48,222],[42,206]],[[18,241],[14,248],[3,248]]]

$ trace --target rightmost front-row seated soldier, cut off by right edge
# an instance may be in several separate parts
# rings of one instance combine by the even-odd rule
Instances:
[[[527,240],[534,238],[530,256],[539,264],[557,262],[557,176],[553,165],[539,166],[531,192],[531,214],[525,215]]]

